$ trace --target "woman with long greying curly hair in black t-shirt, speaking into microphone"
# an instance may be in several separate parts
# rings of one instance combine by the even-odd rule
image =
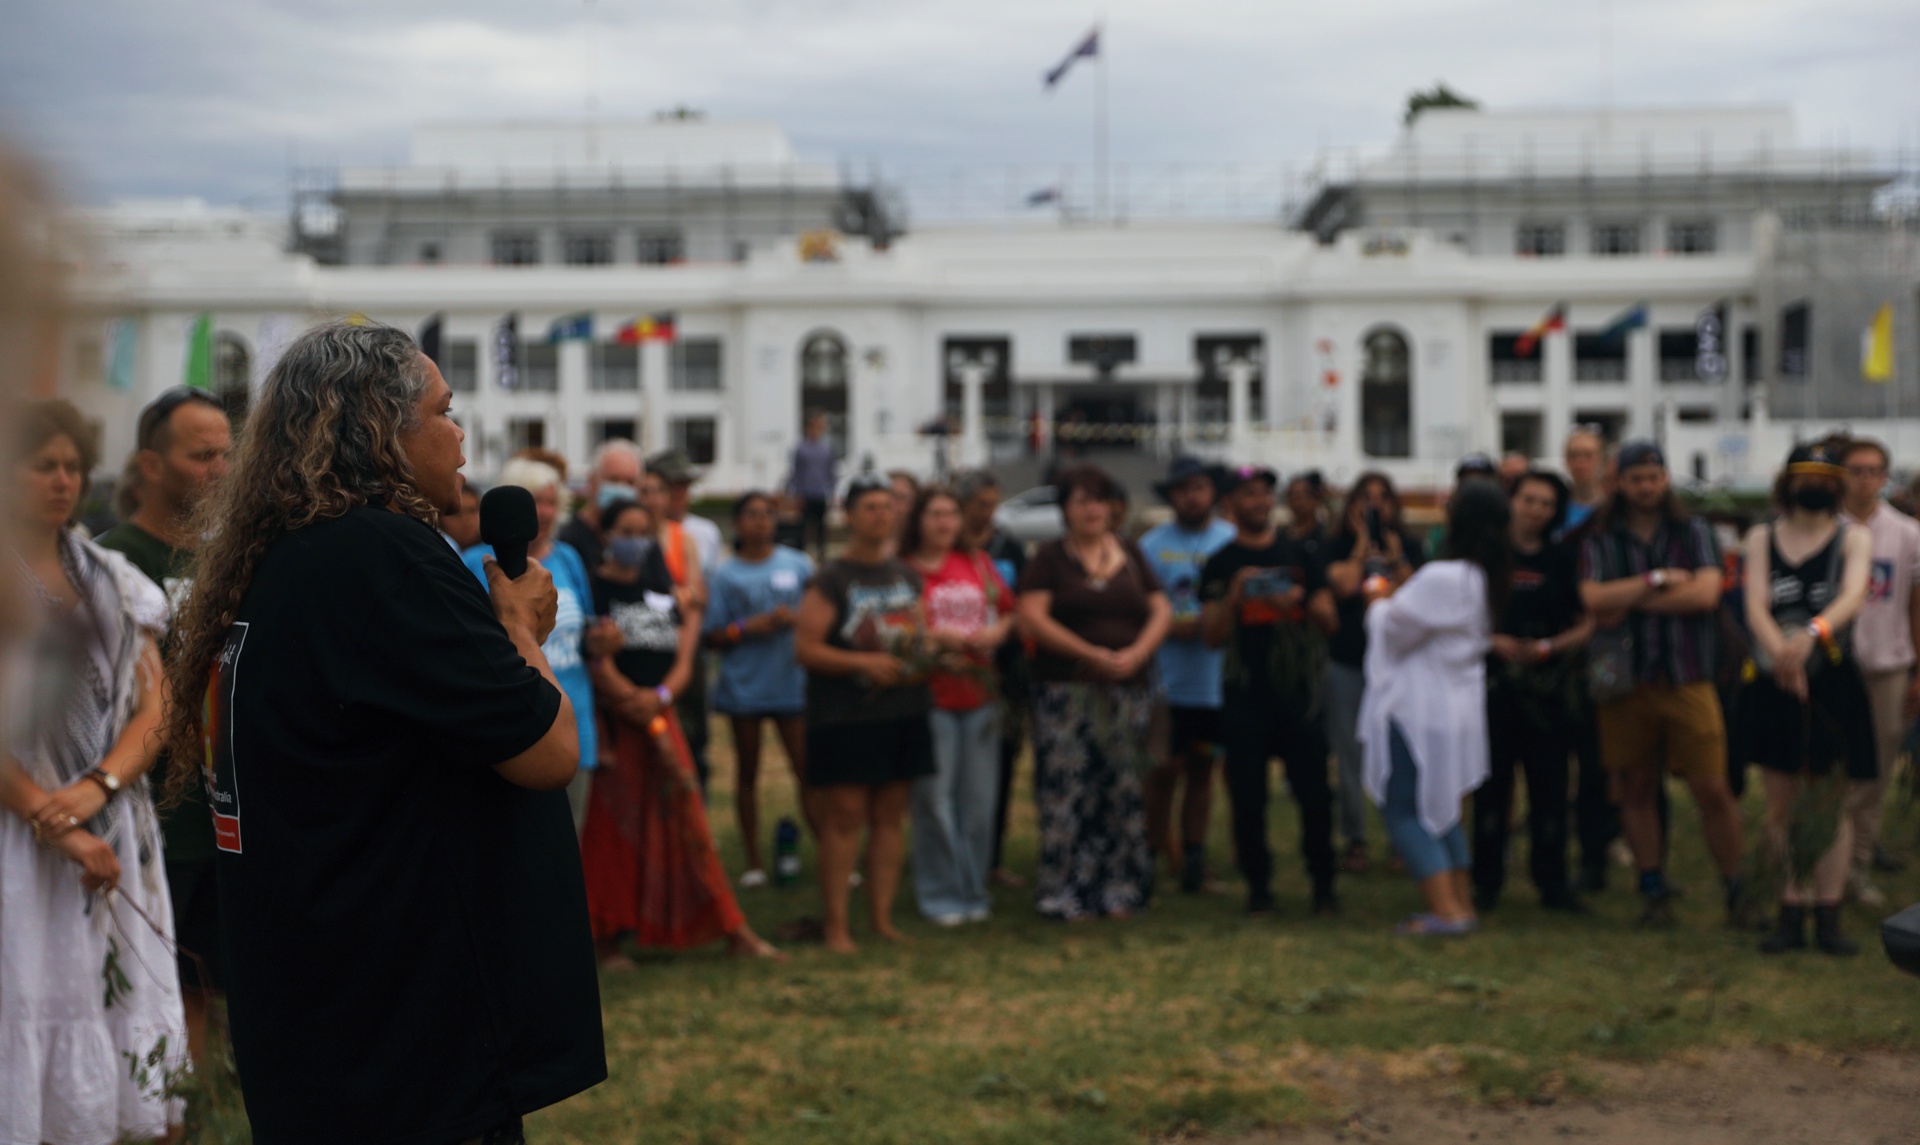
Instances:
[[[169,790],[205,761],[261,1145],[511,1145],[607,1076],[553,580],[488,561],[490,597],[434,530],[451,405],[407,334],[307,330],[196,528]]]

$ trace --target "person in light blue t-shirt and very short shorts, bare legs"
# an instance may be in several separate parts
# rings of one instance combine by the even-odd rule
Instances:
[[[733,815],[747,849],[739,886],[766,886],[760,861],[760,730],[774,720],[780,742],[801,782],[801,807],[814,824],[806,799],[806,672],[793,659],[793,617],[814,576],[814,563],[801,549],[774,544],[780,519],[768,494],[745,494],[733,503],[737,549],[732,561],[707,574],[705,640],[720,649],[714,711],[733,728],[737,782]]]

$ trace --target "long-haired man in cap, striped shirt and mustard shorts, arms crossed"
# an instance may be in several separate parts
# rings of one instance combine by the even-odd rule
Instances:
[[[1672,924],[1657,811],[1668,772],[1693,792],[1736,920],[1743,845],[1715,692],[1720,553],[1707,523],[1680,505],[1653,442],[1620,448],[1617,488],[1580,549],[1580,580],[1599,624],[1590,653],[1599,751],[1640,868],[1640,922]]]

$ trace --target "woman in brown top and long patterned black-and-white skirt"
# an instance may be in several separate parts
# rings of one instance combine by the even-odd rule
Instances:
[[[1043,546],[1020,580],[1020,615],[1039,644],[1039,907],[1048,918],[1125,918],[1154,886],[1140,774],[1171,609],[1140,551],[1114,534],[1114,478],[1077,465],[1054,484],[1066,538]]]

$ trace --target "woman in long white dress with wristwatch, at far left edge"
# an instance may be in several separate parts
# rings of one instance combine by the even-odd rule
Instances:
[[[81,540],[92,440],[65,402],[12,411],[8,559],[35,626],[0,790],[0,1141],[167,1137],[186,1070],[173,909],[146,770],[159,747],[154,634],[167,601]],[[36,607],[35,607],[36,605]]]

